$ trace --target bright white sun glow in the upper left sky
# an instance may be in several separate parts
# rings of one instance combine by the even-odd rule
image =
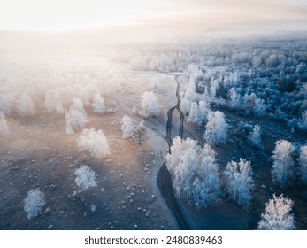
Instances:
[[[66,30],[142,23],[172,14],[140,0],[0,0],[0,29]]]

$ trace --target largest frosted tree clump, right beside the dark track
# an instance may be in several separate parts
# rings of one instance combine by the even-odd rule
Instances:
[[[202,149],[195,140],[181,140],[177,136],[166,156],[166,167],[177,197],[186,198],[196,209],[219,202],[219,166],[208,144]]]

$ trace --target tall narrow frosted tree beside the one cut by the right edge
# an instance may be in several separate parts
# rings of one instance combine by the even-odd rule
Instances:
[[[291,182],[293,176],[295,163],[292,153],[295,151],[295,147],[286,140],[279,140],[275,144],[275,149],[272,151],[274,160],[272,180],[277,182],[281,188],[284,188]]]

